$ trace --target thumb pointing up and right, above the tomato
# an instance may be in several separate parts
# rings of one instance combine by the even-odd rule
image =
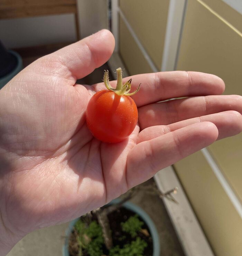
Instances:
[[[80,79],[109,60],[114,44],[112,33],[103,29],[43,57],[42,61],[47,61],[61,76]]]

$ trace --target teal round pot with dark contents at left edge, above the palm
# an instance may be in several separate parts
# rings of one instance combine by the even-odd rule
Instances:
[[[22,69],[22,59],[14,51],[7,50],[0,41],[0,89]]]

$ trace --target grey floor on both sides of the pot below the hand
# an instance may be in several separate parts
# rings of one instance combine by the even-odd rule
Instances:
[[[145,184],[153,182],[149,180]],[[141,185],[142,186],[142,185]],[[154,221],[160,237],[161,256],[184,256],[165,206],[157,195],[140,191],[131,200],[145,210]],[[59,256],[62,255],[65,230],[68,223],[43,228],[29,233],[7,256]]]

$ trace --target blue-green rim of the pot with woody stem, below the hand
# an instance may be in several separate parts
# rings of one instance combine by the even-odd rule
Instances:
[[[119,199],[115,199],[112,202],[110,202],[109,204],[116,204],[119,201],[120,201]],[[145,211],[143,211],[139,206],[137,206],[133,203],[125,202],[122,206],[124,208],[138,214],[140,216],[140,218],[146,223],[146,225],[148,226],[149,231],[151,233],[151,237],[152,237],[153,256],[159,256],[160,255],[159,235],[158,235],[157,229],[155,227],[155,224],[150,219],[149,215]],[[65,245],[63,246],[63,256],[69,256],[69,252],[68,252],[69,237],[70,237],[73,227],[74,227],[75,223],[78,221],[78,219],[79,218],[71,221],[68,229],[66,230],[66,240],[65,240]]]

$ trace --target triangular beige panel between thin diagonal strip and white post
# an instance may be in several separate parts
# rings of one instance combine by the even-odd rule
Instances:
[[[120,8],[157,69],[161,68],[169,0],[122,0]]]

